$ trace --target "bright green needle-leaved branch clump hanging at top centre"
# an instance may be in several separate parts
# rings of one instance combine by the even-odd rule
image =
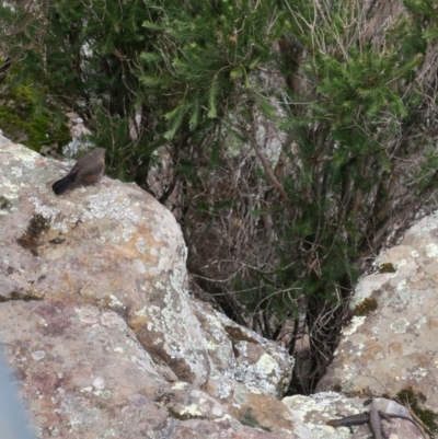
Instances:
[[[172,139],[183,120],[193,129],[205,117],[223,117],[233,94],[253,90],[251,72],[270,58],[272,45],[285,32],[285,13],[274,0],[193,0],[185,8],[178,1],[151,3],[159,13],[143,26],[154,44],[141,55],[140,78],[147,90],[173,101],[165,114],[165,137]]]

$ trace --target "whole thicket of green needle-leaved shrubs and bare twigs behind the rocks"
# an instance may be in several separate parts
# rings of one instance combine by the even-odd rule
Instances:
[[[291,354],[309,336],[312,391],[358,274],[437,206],[434,2],[24,3],[0,7],[14,79],[80,113],[115,175],[149,189],[165,158],[193,286]]]

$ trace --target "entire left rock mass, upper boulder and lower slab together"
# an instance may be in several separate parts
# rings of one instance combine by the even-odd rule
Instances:
[[[0,339],[39,438],[295,437],[285,350],[187,293],[173,216],[0,137]],[[62,171],[61,171],[62,170]]]

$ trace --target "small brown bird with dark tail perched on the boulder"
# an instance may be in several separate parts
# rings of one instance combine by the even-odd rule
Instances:
[[[59,195],[70,186],[93,184],[101,178],[104,169],[105,149],[96,148],[94,151],[79,158],[71,171],[64,178],[55,182],[51,188],[56,195]]]

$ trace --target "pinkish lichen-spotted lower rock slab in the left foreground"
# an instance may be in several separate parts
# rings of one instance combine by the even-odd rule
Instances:
[[[272,437],[242,427],[193,385],[166,382],[113,311],[11,301],[0,307],[0,320],[39,437],[184,438],[194,428],[211,437]]]

